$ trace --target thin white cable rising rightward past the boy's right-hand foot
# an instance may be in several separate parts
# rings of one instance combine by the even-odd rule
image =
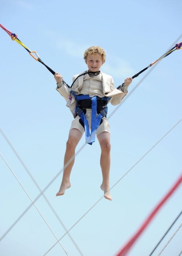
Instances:
[[[164,139],[166,137],[166,135],[168,133],[170,133],[180,122],[182,121],[179,120],[161,139],[158,140],[157,143],[155,143],[148,151],[147,153],[145,153],[111,188],[110,188],[110,191],[112,188],[114,188],[116,186],[116,184],[118,184],[155,146],[157,146],[157,144],[159,142],[161,142],[162,139]],[[108,191],[107,191],[108,192]],[[106,192],[106,193],[107,193]],[[68,229],[68,231],[70,232],[70,230],[78,223],[81,221],[81,219],[83,219],[83,217],[92,210],[92,208],[94,208],[96,206],[96,204],[98,204],[100,202],[100,200],[103,198],[104,196],[100,197],[100,199],[92,206],[90,207],[90,209],[88,211],[85,212],[85,214],[82,215],[82,217],[77,221],[75,222],[75,224],[73,226],[70,227],[70,229]],[[66,236],[66,233],[59,239],[59,241],[64,237]],[[49,251],[51,251],[51,249],[57,244],[57,242],[43,255],[45,256]]]

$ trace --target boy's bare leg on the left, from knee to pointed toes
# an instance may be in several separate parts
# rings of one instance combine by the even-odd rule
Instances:
[[[64,155],[64,170],[62,183],[56,196],[64,195],[67,188],[71,187],[70,174],[75,161],[75,148],[82,138],[82,133],[78,129],[71,129],[66,143],[66,152]]]

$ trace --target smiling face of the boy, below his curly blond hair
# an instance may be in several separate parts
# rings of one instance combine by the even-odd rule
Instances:
[[[102,56],[99,53],[96,53],[95,55],[88,54],[87,60],[85,61],[88,70],[91,72],[97,72],[99,71],[100,67],[102,66]]]

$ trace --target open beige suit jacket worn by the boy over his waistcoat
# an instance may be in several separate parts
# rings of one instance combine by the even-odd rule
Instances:
[[[80,74],[83,74],[85,72],[87,72],[87,71],[84,71]],[[124,98],[126,93],[123,93],[122,91],[114,88],[114,81],[112,79],[112,76],[104,74],[103,72],[100,72],[100,73],[102,74],[103,97],[104,96],[111,97],[111,99],[108,101],[108,103],[111,103],[114,106],[118,105],[122,101],[122,99]],[[75,75],[72,80],[74,81],[80,74]],[[78,95],[82,88],[82,85],[83,85],[83,76],[80,76],[75,81],[75,83],[73,84],[71,89],[74,91],[74,93],[76,95]],[[76,113],[75,113],[76,100],[75,100],[74,95],[72,95],[70,89],[68,89],[68,87],[66,85],[63,85],[60,88],[57,87],[56,90],[59,91],[59,93],[64,97],[64,99],[66,101],[68,99],[68,95],[72,96],[70,111],[75,118],[76,117]]]

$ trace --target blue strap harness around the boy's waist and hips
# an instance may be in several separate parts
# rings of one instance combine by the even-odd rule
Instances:
[[[98,97],[98,96],[94,96],[94,97],[90,97],[89,95],[76,95],[74,93],[74,91],[71,90],[71,93],[74,95],[75,99],[76,99],[76,114],[81,118],[83,124],[84,124],[84,129],[85,129],[85,138],[86,138],[86,143],[92,145],[93,142],[95,142],[95,135],[96,135],[96,130],[100,125],[100,121],[102,119],[102,117],[106,117],[107,115],[107,102],[110,99],[110,97]],[[78,105],[78,101],[82,100],[82,99],[91,99],[91,109],[92,109],[92,113],[91,113],[91,132],[89,129],[89,125],[88,125],[88,120],[85,117],[85,113],[84,113],[84,109],[80,108],[80,106]],[[102,108],[99,112],[99,114],[97,115],[97,99],[102,99],[103,101],[106,102],[106,107]]]

